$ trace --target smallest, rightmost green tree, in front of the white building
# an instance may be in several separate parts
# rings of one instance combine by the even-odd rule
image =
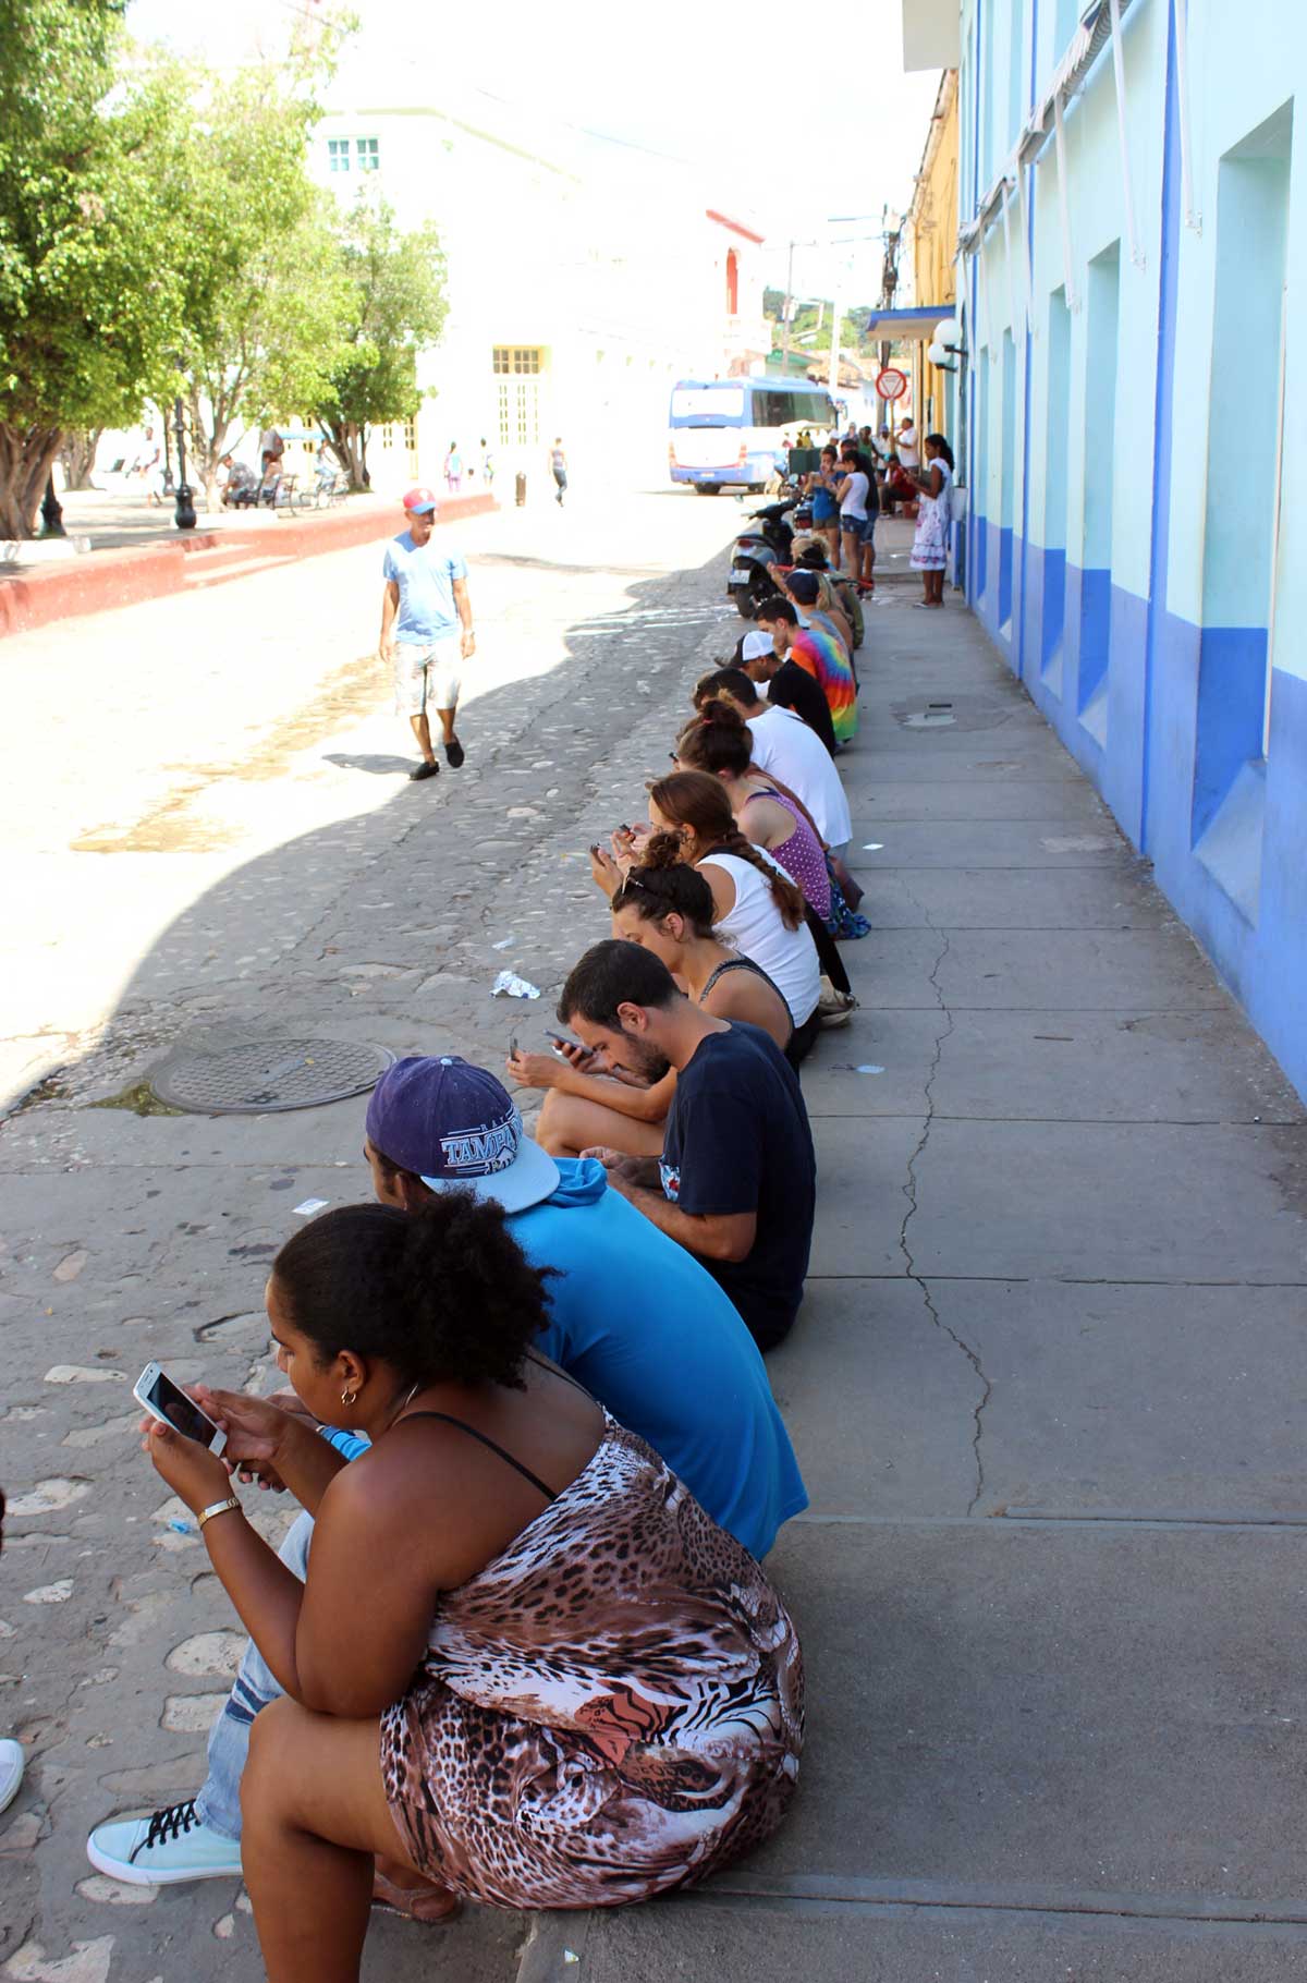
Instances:
[[[432,222],[401,234],[393,208],[367,188],[345,218],[341,248],[355,319],[315,412],[351,486],[363,488],[369,428],[411,420],[422,403],[416,361],[444,327],[444,254]]]

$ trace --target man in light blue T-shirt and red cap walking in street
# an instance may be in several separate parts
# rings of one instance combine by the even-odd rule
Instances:
[[[460,664],[476,652],[468,565],[450,543],[432,543],[436,498],[428,488],[405,496],[409,529],[387,543],[381,573],[381,660],[395,668],[395,714],[407,716],[422,761],[411,779],[434,777],[440,765],[430,748],[430,718],[440,718],[444,756],[458,769],[464,748],[454,734]]]

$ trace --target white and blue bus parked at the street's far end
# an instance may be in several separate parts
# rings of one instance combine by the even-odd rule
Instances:
[[[831,395],[803,379],[680,379],[668,414],[672,482],[700,496],[766,488],[803,428],[817,440],[837,420]]]

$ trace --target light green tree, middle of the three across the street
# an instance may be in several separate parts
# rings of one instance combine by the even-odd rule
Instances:
[[[173,71],[188,101],[163,165],[182,327],[155,391],[180,391],[210,504],[232,430],[317,405],[357,317],[335,206],[307,173],[319,73],[294,59]]]

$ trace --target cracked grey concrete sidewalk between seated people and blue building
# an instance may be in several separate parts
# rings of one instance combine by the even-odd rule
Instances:
[[[1297,1979],[1303,1107],[950,595],[869,611],[803,1087],[793,1818],[532,1983]],[[563,1951],[581,1955],[581,1967]]]

